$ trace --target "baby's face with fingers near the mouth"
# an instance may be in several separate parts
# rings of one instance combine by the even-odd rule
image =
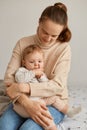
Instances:
[[[28,54],[25,57],[24,66],[28,70],[33,70],[33,69],[42,70],[44,68],[43,53],[34,51],[33,53]]]

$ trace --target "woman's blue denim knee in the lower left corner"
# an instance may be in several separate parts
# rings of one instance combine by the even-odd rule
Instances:
[[[0,117],[0,130],[17,130],[23,119],[13,110],[12,104]]]

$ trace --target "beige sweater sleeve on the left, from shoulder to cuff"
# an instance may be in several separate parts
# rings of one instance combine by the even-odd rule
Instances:
[[[4,82],[13,83],[15,82],[15,73],[21,66],[22,52],[27,46],[34,44],[34,36],[23,37],[16,43],[12,51],[11,59],[6,68]]]

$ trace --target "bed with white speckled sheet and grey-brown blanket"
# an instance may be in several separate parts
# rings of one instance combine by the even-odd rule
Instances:
[[[58,125],[58,130],[87,130],[87,86],[69,86],[69,104],[71,106],[81,106],[82,110],[73,118],[65,116],[63,122]],[[5,111],[10,99],[6,96],[5,85],[0,80],[0,115]]]

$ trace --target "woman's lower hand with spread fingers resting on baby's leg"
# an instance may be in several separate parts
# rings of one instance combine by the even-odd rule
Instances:
[[[27,102],[26,102],[27,101]],[[47,107],[45,104],[39,101],[34,101],[31,99],[26,99],[24,108],[36,123],[43,126],[44,128],[49,125],[47,118],[52,120],[52,116],[47,112]]]

